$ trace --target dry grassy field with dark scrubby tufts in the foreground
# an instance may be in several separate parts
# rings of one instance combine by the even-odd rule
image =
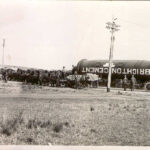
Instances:
[[[150,93],[0,84],[0,144],[150,146]]]

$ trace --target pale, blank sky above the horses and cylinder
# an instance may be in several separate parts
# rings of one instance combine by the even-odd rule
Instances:
[[[113,59],[150,60],[149,1],[0,0],[0,57],[5,38],[7,65],[71,69],[81,59],[108,59],[112,16],[121,26]]]

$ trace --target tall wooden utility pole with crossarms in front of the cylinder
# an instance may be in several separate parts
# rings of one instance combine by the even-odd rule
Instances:
[[[115,20],[117,18],[113,18],[112,22],[107,22],[106,28],[110,30],[111,32],[111,44],[110,44],[110,53],[109,53],[109,72],[108,72],[108,82],[107,82],[107,92],[110,92],[110,86],[111,86],[111,74],[112,74],[112,60],[113,60],[113,49],[114,49],[114,41],[115,41],[115,35],[114,33],[118,31],[119,25],[116,25]]]

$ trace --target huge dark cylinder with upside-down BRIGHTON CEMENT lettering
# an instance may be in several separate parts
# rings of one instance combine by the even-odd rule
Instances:
[[[77,64],[79,74],[95,73],[106,78],[108,75],[108,60],[83,59]],[[139,80],[150,80],[150,61],[145,60],[113,60],[112,78],[123,78],[124,75],[134,75]]]

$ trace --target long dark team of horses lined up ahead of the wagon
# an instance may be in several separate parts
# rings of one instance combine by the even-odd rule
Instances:
[[[3,80],[19,81],[30,84],[59,86],[60,81],[65,79],[67,73],[61,70],[47,71],[47,70],[12,70],[3,69],[2,71]]]

